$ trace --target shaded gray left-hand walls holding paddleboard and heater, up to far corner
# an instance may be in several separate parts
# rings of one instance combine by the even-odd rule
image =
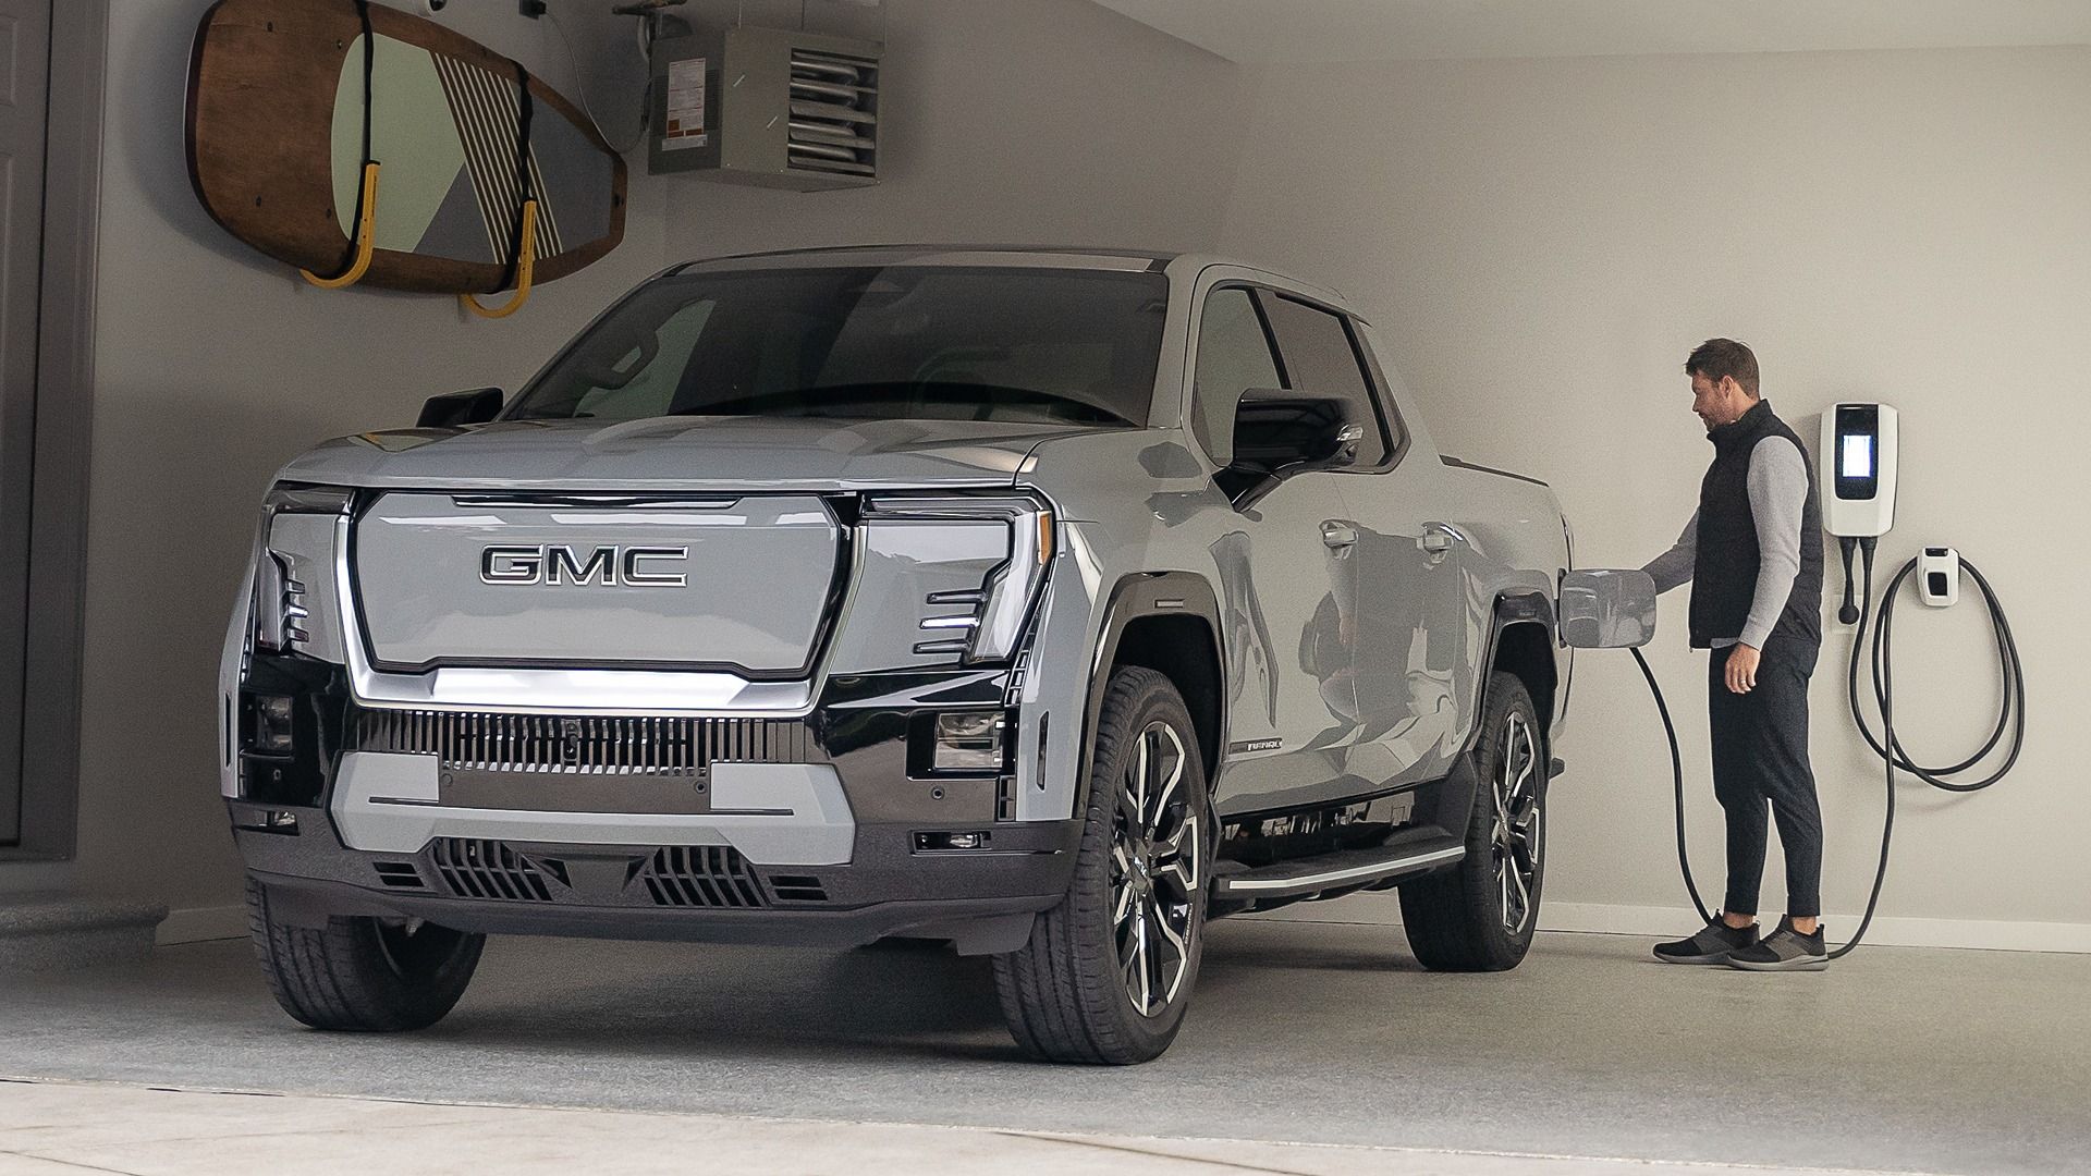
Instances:
[[[657,182],[640,161],[625,245],[523,314],[481,322],[454,299],[309,289],[209,222],[180,123],[205,8],[113,0],[79,858],[0,868],[0,889],[155,896],[178,910],[178,935],[228,929],[238,902],[211,682],[255,504],[284,458],[410,423],[433,391],[516,387],[671,259],[864,241],[1209,247],[1244,119],[1236,67],[1087,0],[895,0],[884,15],[815,0],[813,27],[889,38],[884,184]],[[606,8],[554,0],[596,111],[625,140],[642,73],[631,23]],[[799,4],[751,0],[746,17],[797,23]],[[554,29],[510,0],[456,0],[443,23],[577,98]]]

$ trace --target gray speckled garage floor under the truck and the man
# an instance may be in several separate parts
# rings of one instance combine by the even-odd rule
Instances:
[[[1639,940],[1545,935],[1520,971],[1428,975],[1393,927],[1227,921],[1213,927],[1198,1002],[1163,1061],[1066,1069],[1016,1055],[983,960],[922,950],[493,940],[437,1030],[364,1038],[299,1030],[268,998],[247,944],[213,942],[161,948],[146,967],[0,979],[0,1076],[1428,1149],[1414,1163],[1370,1153],[1372,1168],[1405,1172],[1537,1170],[1506,1155],[2091,1166],[2091,956],[1869,948],[1830,973],[1767,977],[1644,952]],[[0,1140],[27,1138],[17,1130],[36,1117],[21,1111],[27,1090],[73,1107],[138,1094],[0,1086],[0,1103],[17,1107],[0,1113]],[[220,1103],[291,1115],[253,1107],[309,1101]],[[190,1134],[207,1138],[203,1124],[224,1113]],[[933,1155],[960,1166],[964,1140],[976,1143],[939,1138]],[[1196,1170],[1190,1145],[1154,1138],[1125,1147]],[[0,1159],[6,1151],[29,1149],[0,1143]],[[1355,1168],[1315,1149],[1288,1155],[1301,1159],[1213,1153],[1257,1170]]]

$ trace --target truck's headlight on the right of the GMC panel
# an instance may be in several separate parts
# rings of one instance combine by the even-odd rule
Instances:
[[[951,527],[956,536],[989,532],[964,546],[993,552],[991,567],[964,588],[922,594],[922,632],[912,649],[916,655],[958,653],[966,663],[1016,655],[1054,555],[1052,508],[1035,498],[880,496],[866,502],[864,523],[874,532],[880,523],[928,523]]]

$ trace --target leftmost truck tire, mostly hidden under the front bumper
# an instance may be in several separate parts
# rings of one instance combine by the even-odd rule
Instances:
[[[247,929],[270,992],[314,1030],[427,1030],[473,981],[485,935],[435,923],[337,914],[324,929],[270,917],[268,887],[247,879]]]

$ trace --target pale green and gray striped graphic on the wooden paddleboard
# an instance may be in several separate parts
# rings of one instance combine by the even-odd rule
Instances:
[[[376,247],[506,266],[523,193],[516,182],[521,90],[514,75],[376,38],[370,153],[383,163]],[[364,134],[362,38],[335,96],[335,209],[353,236]],[[611,232],[615,161],[539,103],[531,123],[537,259]]]

